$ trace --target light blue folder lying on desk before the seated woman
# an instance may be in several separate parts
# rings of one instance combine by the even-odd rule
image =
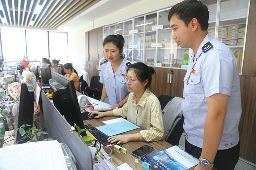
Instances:
[[[101,127],[97,127],[98,130],[100,130],[101,132],[103,132],[108,136],[113,136],[116,134],[128,132],[136,128],[139,128],[139,127],[137,127],[136,125],[133,125],[132,123],[129,123],[128,121],[122,121],[118,123],[112,123],[109,125],[103,125]]]

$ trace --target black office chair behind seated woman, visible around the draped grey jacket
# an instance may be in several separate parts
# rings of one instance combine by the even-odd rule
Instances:
[[[171,101],[173,98],[174,97],[168,96],[168,95],[160,95],[158,97],[158,100],[160,102],[161,109],[163,110],[164,107],[167,105],[167,103],[169,101]],[[165,113],[165,114],[168,114],[168,113]],[[180,121],[178,121],[177,125],[172,130],[172,133],[170,134],[169,138],[166,139],[166,142],[172,144],[173,146],[179,145],[180,136],[182,135],[182,132],[184,131],[183,122],[184,122],[184,117],[182,115]]]

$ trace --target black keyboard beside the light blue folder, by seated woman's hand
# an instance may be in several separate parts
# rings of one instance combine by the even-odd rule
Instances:
[[[98,130],[97,128],[93,127],[92,125],[84,125],[84,127],[86,129],[89,130],[89,132],[100,142],[102,143],[104,146],[107,146],[108,144],[110,144],[108,142],[108,137],[106,134],[104,134],[103,132],[101,132],[100,130]],[[114,143],[116,144],[116,143]]]

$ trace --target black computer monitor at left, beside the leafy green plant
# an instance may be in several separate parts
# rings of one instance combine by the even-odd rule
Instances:
[[[18,98],[16,107],[18,107],[18,113],[15,115],[15,129],[21,127],[22,125],[30,125],[24,127],[24,130],[27,131],[29,128],[32,128],[33,118],[34,118],[34,87],[30,81],[28,83],[21,83],[23,79],[22,75],[19,76],[18,81]],[[29,138],[21,139],[24,136],[21,136],[19,130],[15,134],[15,143],[21,144],[25,143]]]

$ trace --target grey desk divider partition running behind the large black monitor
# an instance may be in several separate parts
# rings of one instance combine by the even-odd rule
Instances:
[[[36,82],[32,84],[36,89]],[[66,143],[76,159],[78,170],[92,169],[92,156],[86,144],[78,137],[76,132],[70,132],[70,124],[56,109],[54,104],[41,91],[42,105],[41,115],[39,117],[42,128],[48,132],[50,138],[56,138],[59,142]]]

